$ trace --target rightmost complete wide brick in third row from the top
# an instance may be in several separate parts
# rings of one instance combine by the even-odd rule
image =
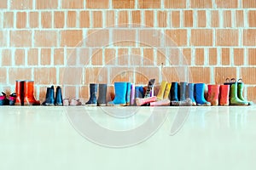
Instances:
[[[217,46],[237,46],[238,30],[220,29],[216,31]]]

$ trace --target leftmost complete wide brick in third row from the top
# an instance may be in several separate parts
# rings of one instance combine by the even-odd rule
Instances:
[[[32,31],[10,31],[10,46],[31,47]]]

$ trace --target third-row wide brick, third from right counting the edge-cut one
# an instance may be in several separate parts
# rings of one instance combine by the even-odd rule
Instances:
[[[212,30],[191,30],[191,45],[212,46]]]

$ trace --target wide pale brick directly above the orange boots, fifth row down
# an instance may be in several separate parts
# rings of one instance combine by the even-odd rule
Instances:
[[[9,83],[15,84],[16,80],[31,80],[32,69],[31,68],[9,68]]]

